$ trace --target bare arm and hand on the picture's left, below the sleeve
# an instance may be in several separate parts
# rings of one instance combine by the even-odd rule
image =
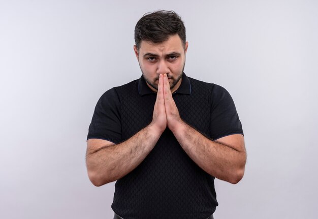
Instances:
[[[162,84],[162,77],[160,84]],[[86,166],[90,181],[100,186],[134,170],[152,150],[166,129],[163,90],[158,89],[151,123],[130,139],[114,144],[101,139],[87,141]]]

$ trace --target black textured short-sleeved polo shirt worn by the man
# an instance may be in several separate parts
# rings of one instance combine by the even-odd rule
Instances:
[[[243,134],[234,102],[223,87],[183,74],[173,99],[183,121],[207,138]],[[127,140],[151,122],[155,100],[143,76],[106,91],[87,139],[115,144]],[[112,209],[125,219],[203,219],[217,205],[214,177],[188,157],[167,128],[144,161],[117,180]]]

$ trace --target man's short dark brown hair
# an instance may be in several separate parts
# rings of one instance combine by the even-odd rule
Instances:
[[[141,41],[162,43],[171,35],[178,34],[185,45],[185,26],[181,17],[174,11],[146,13],[135,26],[135,43],[139,49]]]

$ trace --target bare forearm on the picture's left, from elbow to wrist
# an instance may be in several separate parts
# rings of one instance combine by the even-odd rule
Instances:
[[[120,144],[87,150],[86,165],[92,183],[100,186],[134,170],[152,150],[160,135],[149,124]]]

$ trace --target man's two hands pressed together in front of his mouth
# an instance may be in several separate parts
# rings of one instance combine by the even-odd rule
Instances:
[[[167,74],[160,74],[151,123],[156,127],[156,130],[163,133],[167,126],[174,132],[182,122],[178,108],[172,98]]]

